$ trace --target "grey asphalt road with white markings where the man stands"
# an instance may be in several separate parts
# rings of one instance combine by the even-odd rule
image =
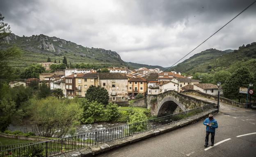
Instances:
[[[214,115],[214,118],[219,128],[215,133],[215,146],[208,147],[208,150],[203,146],[205,126],[201,120],[97,157],[256,157],[255,110],[221,103],[220,112]],[[254,134],[236,137],[248,133]],[[218,142],[222,143],[217,145]]]

